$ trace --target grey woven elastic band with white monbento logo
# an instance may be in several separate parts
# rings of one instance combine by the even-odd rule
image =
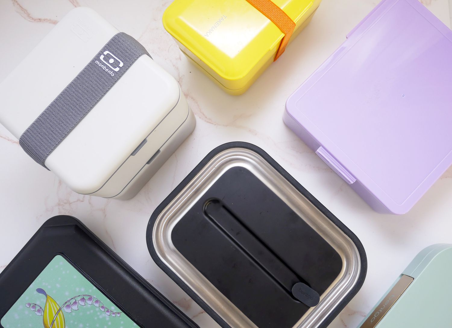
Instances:
[[[144,54],[149,56],[130,35],[115,34],[22,133],[20,146],[44,166],[47,157],[61,141]]]

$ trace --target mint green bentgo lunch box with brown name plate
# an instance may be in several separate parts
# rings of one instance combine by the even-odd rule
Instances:
[[[359,328],[450,327],[452,245],[421,251]]]

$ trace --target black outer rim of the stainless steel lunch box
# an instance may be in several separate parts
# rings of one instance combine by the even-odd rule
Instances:
[[[171,191],[170,195],[165,198],[154,210],[151,215],[151,219],[149,220],[147,229],[146,229],[146,244],[151,254],[152,259],[157,263],[157,265],[168,275],[172,280],[176,282],[179,287],[181,287],[196,303],[201,306],[202,309],[206,311],[222,328],[232,328],[229,324],[226,323],[213,309],[208,306],[192,289],[188,287],[184,283],[182,279],[179,278],[170,267],[166,266],[163,261],[160,260],[160,257],[155,252],[154,244],[152,241],[152,230],[154,228],[155,220],[158,218],[160,213],[165,209],[168,204],[170,204],[171,200],[173,200],[182,189],[193,179],[194,176],[198,174],[199,171],[202,170],[204,166],[207,165],[210,160],[215,157],[218,153],[231,148],[245,148],[249,149],[253,152],[256,152],[261,157],[263,157],[274,169],[276,169],[287,181],[289,181],[300,193],[305,196],[312,204],[317,207],[320,212],[322,212],[331,222],[333,222],[348,238],[352,240],[358,249],[358,254],[361,261],[361,271],[358,276],[358,280],[352,289],[348,292],[348,294],[342,299],[339,304],[334,308],[334,310],[325,317],[322,324],[319,328],[326,328],[328,325],[336,318],[336,316],[345,308],[345,306],[350,302],[350,300],[358,293],[364,283],[364,279],[367,274],[367,257],[366,252],[364,250],[363,244],[358,239],[358,237],[348,229],[344,223],[342,223],[338,218],[336,218],[323,204],[320,203],[309,191],[307,191],[298,181],[296,181],[286,170],[282,168],[270,155],[268,155],[262,148],[255,146],[252,143],[245,142],[231,142],[224,143],[221,146],[216,147],[211,152],[207,154],[206,157],[202,159],[201,162],[184,178],[184,180],[179,183],[179,185]]]

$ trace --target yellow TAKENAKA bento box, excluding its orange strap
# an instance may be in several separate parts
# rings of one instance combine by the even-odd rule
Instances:
[[[293,40],[320,1],[175,0],[165,10],[163,25],[207,76],[226,92],[240,95],[274,61],[286,35],[251,2],[279,7],[295,23]]]

